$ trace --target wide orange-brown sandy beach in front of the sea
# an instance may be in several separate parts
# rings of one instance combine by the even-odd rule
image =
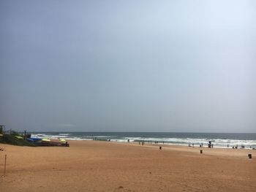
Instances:
[[[255,150],[69,143],[70,147],[1,144],[0,191],[256,191]]]

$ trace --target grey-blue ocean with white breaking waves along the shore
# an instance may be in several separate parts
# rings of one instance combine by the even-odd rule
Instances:
[[[193,145],[203,147],[256,148],[256,133],[174,133],[174,132],[33,132],[31,137],[63,138],[70,140],[110,140],[110,142],[158,142],[165,145]]]

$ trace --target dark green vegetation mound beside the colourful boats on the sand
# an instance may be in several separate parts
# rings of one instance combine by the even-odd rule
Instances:
[[[0,137],[0,143],[10,144],[10,145],[19,145],[19,146],[31,146],[35,147],[35,145],[31,142],[26,141],[26,139],[19,139],[20,136],[18,134],[4,134]]]

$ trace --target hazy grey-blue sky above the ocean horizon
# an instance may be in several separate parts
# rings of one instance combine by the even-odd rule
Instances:
[[[0,124],[256,132],[256,1],[0,1]]]

